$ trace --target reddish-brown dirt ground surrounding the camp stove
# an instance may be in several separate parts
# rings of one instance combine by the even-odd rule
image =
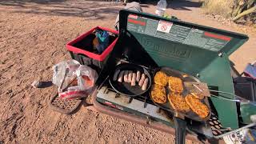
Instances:
[[[171,2],[167,13],[187,22],[248,34],[249,42],[230,56],[241,72],[247,62],[255,60],[256,36],[248,27],[206,17],[198,6],[198,2]],[[70,58],[66,42],[94,26],[113,28],[121,8],[83,0],[0,1],[0,143],[174,142],[173,135],[84,106],[73,115],[59,114],[48,106],[54,86],[30,86],[38,78],[51,81],[51,67]],[[142,9],[154,13],[154,5]]]

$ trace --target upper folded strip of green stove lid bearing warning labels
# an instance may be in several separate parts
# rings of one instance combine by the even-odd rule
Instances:
[[[134,16],[135,15],[135,16]],[[136,17],[138,16],[138,18]],[[136,19],[137,18],[137,19]],[[204,32],[207,32],[207,34],[202,35],[203,38],[201,39],[194,39],[194,42],[197,40],[205,40],[204,38],[213,38],[211,40],[215,40],[215,44],[219,44],[220,46],[216,46],[216,47],[202,47],[202,46],[197,46],[197,44],[193,43],[194,46],[197,46],[198,48],[204,49],[204,50],[213,50],[216,53],[219,52],[224,52],[228,55],[232,54],[235,50],[237,50],[240,46],[242,46],[242,44],[244,42],[246,42],[248,40],[248,36],[246,36],[245,34],[238,34],[238,33],[234,33],[231,31],[227,31],[227,30],[219,30],[219,29],[215,29],[213,27],[209,27],[209,26],[201,26],[201,25],[197,25],[194,23],[190,23],[190,22],[182,22],[179,21],[177,19],[168,19],[168,18],[161,18],[152,14],[146,14],[146,13],[138,13],[135,11],[131,11],[131,10],[120,10],[119,13],[119,27],[120,30],[128,30],[130,32],[136,32],[139,34],[147,34],[147,35],[151,35],[154,38],[156,38],[156,40],[158,38],[162,38],[165,39],[165,36],[159,36],[158,34],[154,33],[154,29],[157,28],[157,26],[155,26],[154,22],[172,22],[172,29],[170,30],[170,32],[172,32],[174,29],[177,30],[182,30],[180,32],[182,32],[182,34],[185,34],[186,31],[187,32],[191,32],[191,30],[202,30]],[[135,22],[135,23],[134,23]],[[135,25],[131,25],[131,24],[135,24]],[[144,26],[142,26],[144,25]],[[147,29],[147,27],[149,29]],[[134,30],[132,30],[134,28]],[[184,28],[184,29],[182,29]],[[190,28],[190,29],[188,29]],[[143,31],[144,30],[144,31]],[[164,34],[163,34],[164,35]],[[180,35],[181,36],[181,35]],[[176,38],[178,38],[179,36],[177,36]],[[181,37],[179,37],[181,38]],[[180,41],[176,41],[174,37],[172,38],[167,38],[171,43],[175,43],[178,42],[180,45],[186,45],[186,46],[193,46],[191,45],[191,43],[187,43],[186,42],[180,42]],[[227,43],[221,43],[222,40],[224,39],[224,41],[227,41]],[[213,42],[213,41],[211,41]],[[200,42],[199,42],[200,43]]]

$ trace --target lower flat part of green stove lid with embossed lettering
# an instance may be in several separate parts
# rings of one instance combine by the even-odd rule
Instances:
[[[188,74],[196,75],[214,60],[212,51],[170,43],[165,39],[132,33],[158,66],[169,66]],[[203,59],[203,61],[202,61]]]

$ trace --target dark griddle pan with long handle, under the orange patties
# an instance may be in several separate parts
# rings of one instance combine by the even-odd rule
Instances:
[[[198,80],[198,78],[195,78],[194,76],[192,76],[190,74],[185,74],[185,73],[182,73],[178,70],[172,70],[169,67],[161,67],[161,68],[158,68],[154,71],[155,71],[154,74],[158,71],[162,71],[162,72],[166,73],[168,76],[181,78],[183,82],[200,82]],[[167,90],[166,94],[168,94],[170,91],[168,89],[166,89],[166,90]],[[182,95],[184,96],[188,93],[189,92],[184,87],[184,91],[183,91]],[[150,93],[150,98],[152,99],[151,93]],[[152,99],[152,101],[153,101],[153,99]],[[206,97],[204,99],[202,99],[201,102],[206,104],[206,106],[208,106],[209,109],[210,109],[210,104],[209,104],[208,99]],[[206,118],[200,118],[197,114],[194,114],[194,112],[192,112],[191,110],[190,110],[190,112],[188,112],[186,114],[179,113],[178,111],[175,111],[170,106],[168,98],[167,98],[167,102],[164,103],[164,104],[160,104],[160,103],[156,103],[156,102],[154,102],[154,104],[156,106],[162,108],[163,110],[170,111],[174,115],[175,143],[176,144],[185,144],[185,138],[186,138],[186,121],[184,120],[185,117],[190,118],[194,121],[205,122],[206,120],[208,120],[210,118],[210,114],[211,114],[211,112],[210,112]]]

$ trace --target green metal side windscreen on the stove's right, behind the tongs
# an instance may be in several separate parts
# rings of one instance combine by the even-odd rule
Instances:
[[[234,94],[233,81],[230,75],[230,61],[226,54],[215,58],[210,65],[200,72],[200,80],[208,83],[213,90],[220,90]],[[234,95],[218,94],[221,97],[234,99]],[[221,98],[211,97],[211,101],[218,112],[218,118],[222,126],[238,128],[238,114],[235,102]]]

